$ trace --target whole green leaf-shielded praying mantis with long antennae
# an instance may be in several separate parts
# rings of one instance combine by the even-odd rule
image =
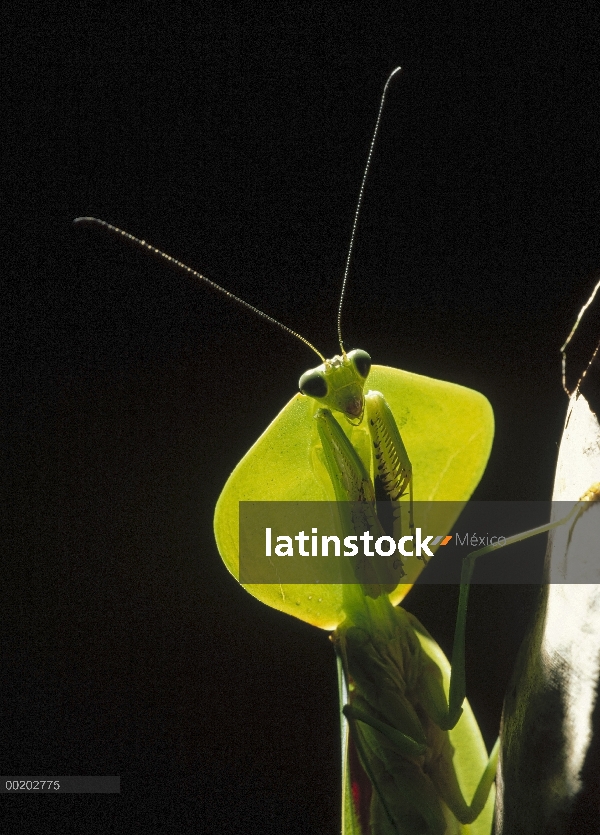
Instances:
[[[494,420],[483,395],[372,365],[366,351],[346,352],[342,340],[342,303],[365,182],[386,92],[398,71],[384,88],[360,188],[338,310],[338,356],[326,359],[300,334],[128,232],[95,218],[75,221],[124,238],[209,284],[319,356],[320,364],[302,375],[300,392],[240,461],[217,502],[218,549],[238,580],[242,501],[333,501],[344,533],[367,531],[378,538],[389,530],[397,540],[402,510],[408,510],[412,533],[413,503],[446,501],[460,509],[488,460]],[[376,502],[383,499],[393,508],[391,529],[377,514]],[[365,511],[358,527],[344,510],[356,504]],[[447,529],[457,515],[455,509],[444,519]],[[393,581],[375,574],[353,584],[245,584],[267,605],[333,630],[343,714],[343,835],[491,831],[499,745],[488,756],[465,700],[464,644],[474,563],[503,545],[465,558],[452,667],[419,621],[398,605],[424,566],[416,556],[396,565]]]

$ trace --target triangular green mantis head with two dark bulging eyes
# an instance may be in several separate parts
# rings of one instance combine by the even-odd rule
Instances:
[[[305,371],[298,387],[323,408],[341,412],[358,426],[365,410],[363,389],[370,370],[371,357],[357,348]]]

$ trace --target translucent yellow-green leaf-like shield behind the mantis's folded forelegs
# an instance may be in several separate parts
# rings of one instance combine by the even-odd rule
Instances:
[[[384,366],[372,367],[366,387],[381,391],[392,410],[412,462],[415,501],[467,501],[485,469],[494,434],[486,398],[453,383]],[[223,488],[215,510],[215,537],[236,579],[240,501],[335,500],[326,474],[319,473],[314,411],[311,398],[292,398]],[[444,520],[446,530],[458,510]],[[334,629],[344,619],[341,585],[245,588],[263,603],[322,629]],[[399,603],[409,588],[399,585],[390,595],[392,603]]]

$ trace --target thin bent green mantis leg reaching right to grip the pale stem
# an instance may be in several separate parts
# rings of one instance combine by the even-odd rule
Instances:
[[[463,559],[461,575],[460,575],[460,597],[458,602],[458,613],[456,616],[456,626],[454,630],[454,644],[452,647],[452,677],[450,679],[450,698],[448,705],[448,714],[446,717],[440,717],[440,727],[449,729],[453,728],[458,722],[462,713],[462,703],[466,695],[466,681],[465,681],[465,628],[467,621],[467,604],[469,600],[469,589],[473,570],[475,568],[475,561],[478,557],[484,554],[489,554],[492,551],[497,551],[507,545],[514,545],[516,542],[521,542],[529,539],[532,536],[537,536],[541,533],[551,531],[553,528],[558,528],[566,524],[570,520],[576,520],[586,508],[590,506],[591,502],[600,500],[600,482],[594,484],[579,501],[573,506],[571,511],[562,519],[555,522],[549,522],[546,525],[540,525],[538,528],[532,528],[524,533],[515,534],[508,537],[504,542],[497,542],[493,545],[487,545],[485,548],[480,548],[477,551],[472,551]],[[436,717],[437,721],[437,717]]]

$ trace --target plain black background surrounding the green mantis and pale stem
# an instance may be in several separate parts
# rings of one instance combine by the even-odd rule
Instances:
[[[77,215],[331,355],[402,64],[346,344],[487,395],[477,498],[550,496],[558,349],[600,269],[598,12],[469,6],[4,7],[1,772],[122,778],[120,796],[6,798],[6,831],[338,831],[327,635],[244,592],[212,534],[313,357]],[[456,591],[407,601],[446,651]],[[472,595],[488,744],[533,593]]]

